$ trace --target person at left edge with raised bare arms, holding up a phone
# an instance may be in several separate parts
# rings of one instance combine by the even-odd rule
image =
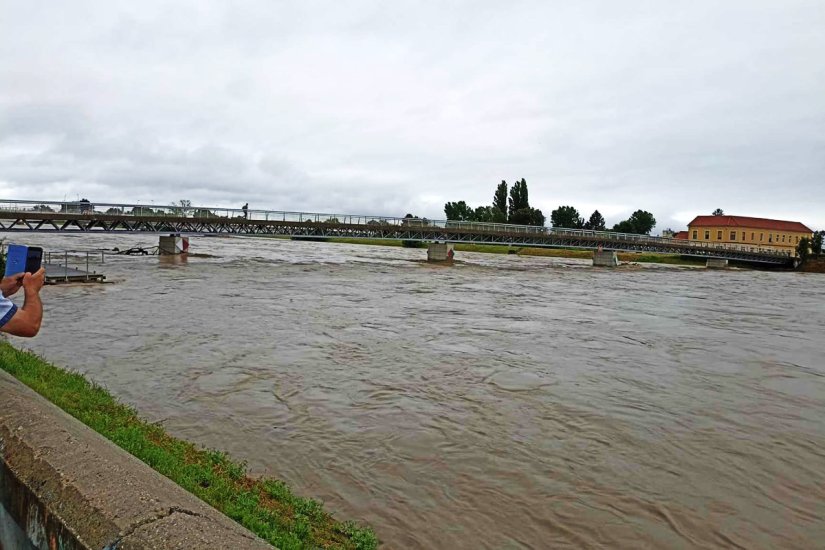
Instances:
[[[43,321],[43,303],[40,301],[40,289],[46,281],[46,269],[40,268],[35,273],[18,273],[3,277],[0,281],[0,332],[13,336],[31,338],[40,331]],[[23,289],[23,307],[18,308],[9,296]]]

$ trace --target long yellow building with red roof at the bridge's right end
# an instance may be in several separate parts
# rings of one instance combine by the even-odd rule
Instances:
[[[740,250],[770,249],[796,254],[802,237],[813,237],[804,224],[746,216],[696,216],[688,224],[691,241],[724,244]]]

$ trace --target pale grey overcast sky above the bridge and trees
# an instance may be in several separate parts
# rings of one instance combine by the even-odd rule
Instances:
[[[0,0],[0,198],[825,229],[825,1]]]

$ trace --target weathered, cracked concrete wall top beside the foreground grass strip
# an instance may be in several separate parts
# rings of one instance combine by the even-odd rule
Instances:
[[[34,548],[272,548],[3,371],[0,506]]]

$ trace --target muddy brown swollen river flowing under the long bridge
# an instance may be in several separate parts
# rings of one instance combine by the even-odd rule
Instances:
[[[825,544],[825,276],[192,246],[45,289],[30,347],[387,548]]]

